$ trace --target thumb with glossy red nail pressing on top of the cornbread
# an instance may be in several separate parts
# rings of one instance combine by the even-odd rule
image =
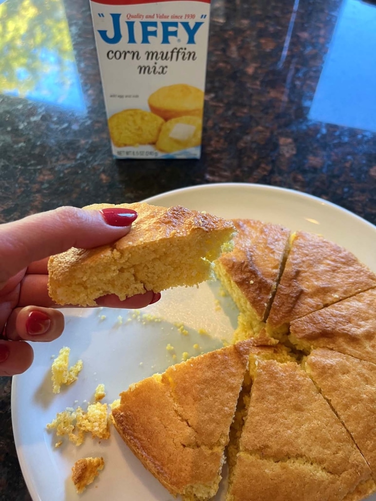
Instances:
[[[92,248],[126,235],[137,212],[109,207],[84,210],[59,207],[0,225],[0,283],[33,261],[70,247]]]

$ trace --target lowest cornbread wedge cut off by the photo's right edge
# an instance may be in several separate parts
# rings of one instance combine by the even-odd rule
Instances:
[[[313,350],[305,369],[355,440],[376,479],[376,365],[331,350]]]

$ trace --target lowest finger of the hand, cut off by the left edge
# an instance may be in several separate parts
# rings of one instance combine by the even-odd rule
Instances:
[[[0,341],[0,376],[25,372],[34,360],[33,348],[25,341]]]

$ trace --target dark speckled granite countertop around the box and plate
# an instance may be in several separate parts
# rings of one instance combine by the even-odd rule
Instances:
[[[0,222],[251,182],[376,224],[372,3],[213,0],[200,160],[113,159],[88,0],[0,0],[0,18]],[[0,499],[26,500],[10,390],[1,378]]]

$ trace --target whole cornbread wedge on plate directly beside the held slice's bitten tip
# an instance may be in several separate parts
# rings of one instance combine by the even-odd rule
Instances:
[[[237,339],[258,335],[274,296],[288,251],[290,230],[252,219],[234,219],[234,250],[221,256],[215,272],[242,316]]]

